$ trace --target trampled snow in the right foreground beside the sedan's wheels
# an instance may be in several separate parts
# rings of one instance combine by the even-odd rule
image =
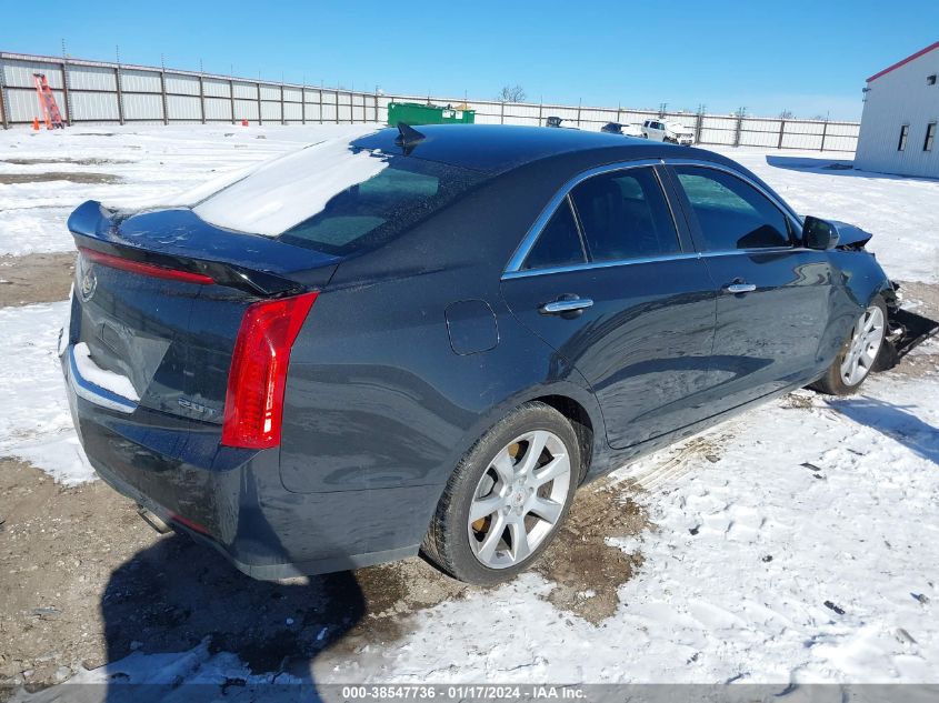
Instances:
[[[811,408],[778,401],[700,438],[710,459],[683,455],[680,475],[681,448],[620,470],[653,486],[638,500],[657,529],[621,544],[645,563],[599,626],[555,610],[529,574],[314,679],[935,682],[937,384],[887,374],[847,400],[805,392]]]

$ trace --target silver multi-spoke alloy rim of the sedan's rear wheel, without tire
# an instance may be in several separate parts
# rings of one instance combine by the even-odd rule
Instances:
[[[479,480],[470,504],[469,541],[490,569],[526,560],[560,520],[570,490],[570,458],[546,430],[503,446]]]

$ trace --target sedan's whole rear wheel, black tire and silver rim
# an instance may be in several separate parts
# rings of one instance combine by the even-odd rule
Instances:
[[[424,556],[467,583],[513,578],[557,534],[580,469],[580,443],[561,413],[540,402],[515,409],[460,460],[424,538]]]

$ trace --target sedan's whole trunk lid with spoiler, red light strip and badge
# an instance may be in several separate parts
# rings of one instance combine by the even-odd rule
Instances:
[[[90,201],[69,229],[79,258],[66,341],[86,396],[219,425],[248,308],[319,290],[339,263],[189,209],[128,215]]]

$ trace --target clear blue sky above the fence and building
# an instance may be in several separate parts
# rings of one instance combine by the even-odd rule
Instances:
[[[865,79],[939,40],[939,0],[0,0],[0,50],[386,93],[858,119]]]

